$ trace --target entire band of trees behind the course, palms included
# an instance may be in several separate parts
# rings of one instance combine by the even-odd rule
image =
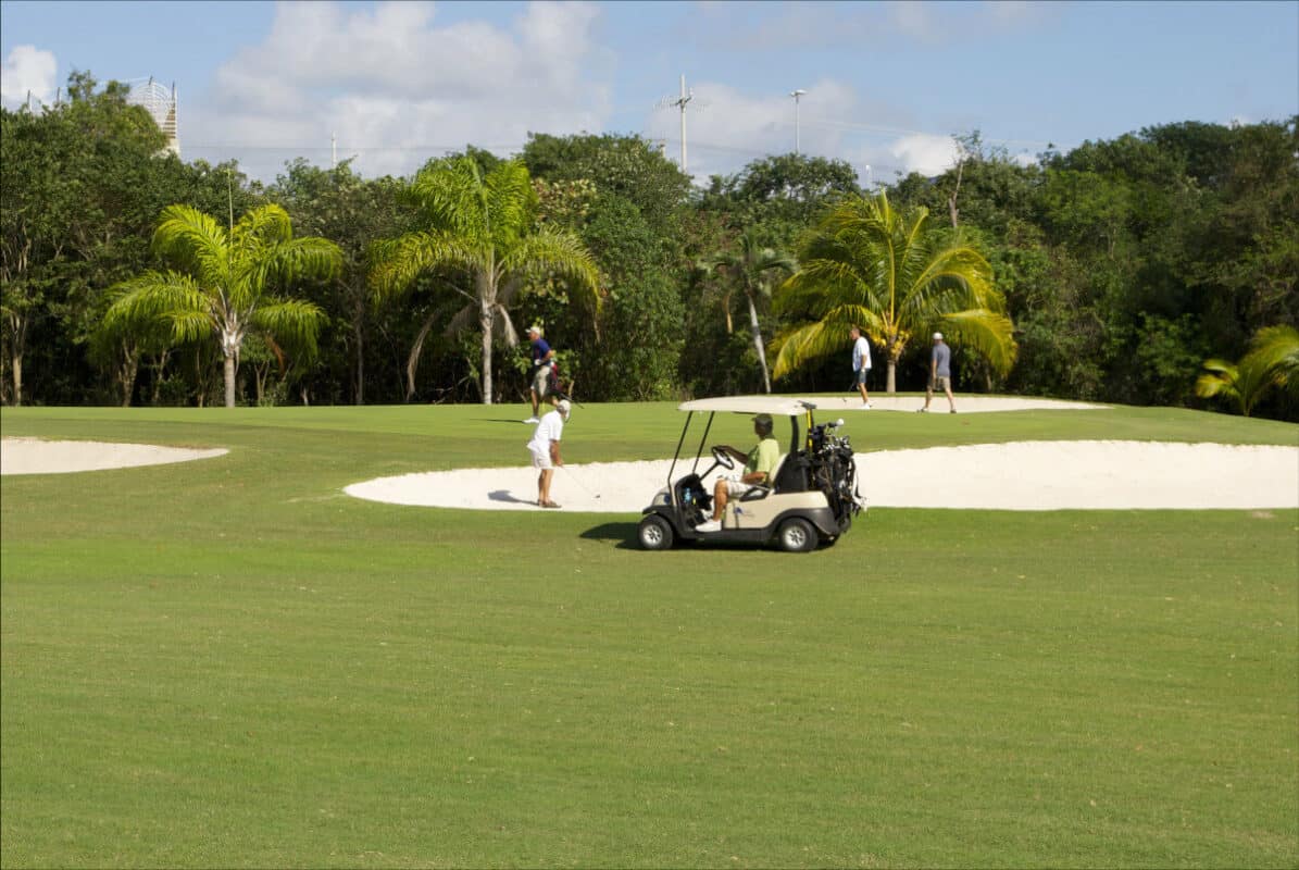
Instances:
[[[1143,129],[863,190],[807,155],[695,187],[629,135],[409,178],[183,163],[116,82],[0,112],[8,404],[518,402],[920,389],[1299,419],[1299,118]],[[917,341],[920,339],[920,341]]]

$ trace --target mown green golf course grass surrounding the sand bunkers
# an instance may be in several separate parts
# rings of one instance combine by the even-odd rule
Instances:
[[[230,453],[3,480],[0,865],[1299,865],[1299,511],[877,508],[808,555],[643,553],[637,515],[340,492],[522,466],[522,416],[4,410]],[[578,408],[565,459],[670,455],[681,417]],[[1157,408],[848,432],[1299,441]]]

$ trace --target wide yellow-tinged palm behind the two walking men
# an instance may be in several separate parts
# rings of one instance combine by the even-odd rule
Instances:
[[[852,325],[883,346],[889,393],[907,342],[934,328],[1002,375],[1015,364],[1013,326],[991,267],[959,235],[942,241],[925,208],[903,215],[883,191],[846,199],[800,247],[799,264],[776,295],[778,313],[805,319],[778,342],[777,378],[842,349]]]

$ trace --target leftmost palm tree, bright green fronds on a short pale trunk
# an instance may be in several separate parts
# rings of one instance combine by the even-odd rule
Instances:
[[[153,233],[153,250],[177,268],[149,270],[113,287],[105,330],[130,332],[161,321],[170,325],[175,343],[214,336],[225,364],[227,408],[235,406],[239,350],[251,332],[316,354],[325,312],[310,302],[279,297],[275,287],[299,278],[334,278],[343,252],[327,239],[294,238],[288,213],[279,205],[253,208],[229,231],[196,208],[168,205]]]

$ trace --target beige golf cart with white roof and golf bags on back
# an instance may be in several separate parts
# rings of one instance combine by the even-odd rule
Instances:
[[[816,425],[812,419],[814,408],[816,404],[805,399],[770,395],[696,399],[678,406],[678,411],[686,411],[686,424],[668,471],[668,485],[642,511],[644,518],[637,528],[640,546],[666,550],[675,541],[713,541],[776,544],[790,553],[807,553],[821,542],[834,544],[852,525],[852,518],[863,510],[864,501],[856,492],[857,468],[848,438],[834,433],[843,420]],[[713,472],[742,471],[722,445],[705,446],[717,416],[731,414],[770,415],[774,423],[772,436],[777,440],[783,437],[779,417],[788,419],[787,453],[782,453],[768,485],[755,485],[726,502],[720,529],[700,532],[696,527],[712,516]],[[694,462],[686,471],[681,451],[696,417],[703,420],[703,432]],[[801,438],[800,420],[804,421]],[[705,451],[712,464],[700,471]],[[678,467],[685,472],[679,477]]]

